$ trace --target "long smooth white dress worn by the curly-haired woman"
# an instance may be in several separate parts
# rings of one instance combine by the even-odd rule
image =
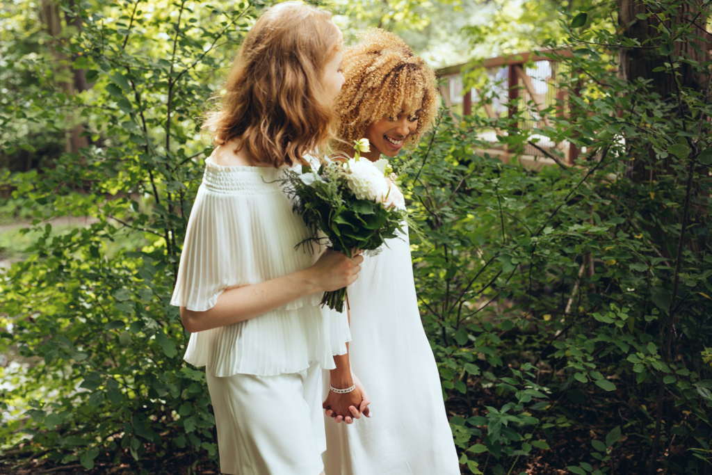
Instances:
[[[407,229],[406,233],[407,233]],[[325,416],[326,475],[459,475],[435,358],[423,330],[408,236],[365,256],[348,288],[351,368],[370,418]],[[324,372],[328,388],[329,372]]]

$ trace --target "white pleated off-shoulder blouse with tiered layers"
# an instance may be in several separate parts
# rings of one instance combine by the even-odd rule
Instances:
[[[172,305],[208,310],[226,288],[281,277],[318,259],[318,246],[313,254],[295,249],[309,234],[276,182],[286,169],[224,167],[206,159]],[[321,308],[322,296],[313,293],[249,320],[191,333],[184,360],[219,377],[279,375],[315,362],[333,369],[333,355],[346,353],[351,335],[346,313]]]

